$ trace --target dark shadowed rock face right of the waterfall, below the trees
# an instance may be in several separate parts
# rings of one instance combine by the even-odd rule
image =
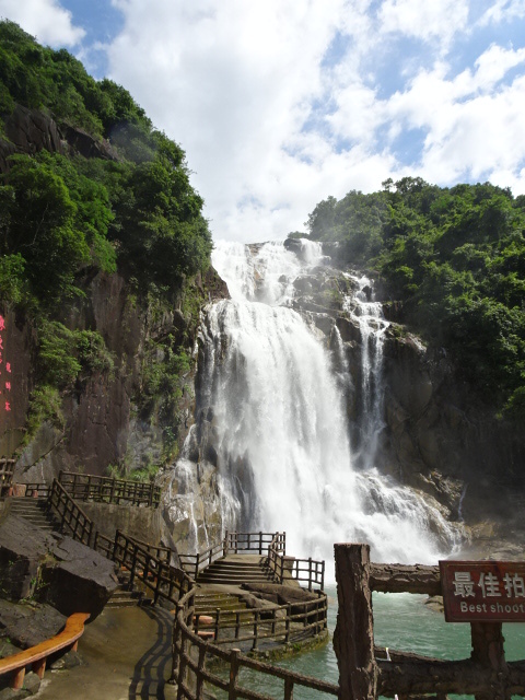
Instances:
[[[383,469],[434,495],[455,518],[506,518],[501,503],[524,487],[523,434],[480,404],[444,350],[398,330],[385,342]]]

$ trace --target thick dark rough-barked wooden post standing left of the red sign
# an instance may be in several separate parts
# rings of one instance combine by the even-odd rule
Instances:
[[[335,545],[339,610],[334,650],[339,666],[339,700],[375,700],[374,618],[368,545]]]

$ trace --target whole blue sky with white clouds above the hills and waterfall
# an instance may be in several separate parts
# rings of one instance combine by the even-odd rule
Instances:
[[[410,176],[525,192],[525,0],[0,0],[186,151],[217,240]]]

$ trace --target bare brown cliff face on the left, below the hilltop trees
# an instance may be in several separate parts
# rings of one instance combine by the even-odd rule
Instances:
[[[201,303],[228,296],[225,283],[211,268],[188,282],[188,293]],[[128,470],[147,468],[163,458],[165,432],[159,425],[155,406],[139,410],[144,352],[151,342],[172,338],[188,354],[195,345],[197,323],[180,308],[163,311],[139,306],[119,275],[86,277],[85,299],[71,307],[63,323],[72,329],[98,331],[114,358],[110,373],[95,372],[78,382],[74,392],[62,396],[63,421],[44,421],[27,440],[26,419],[31,393],[35,387],[37,336],[22,316],[4,311],[4,347],[12,359],[11,411],[0,413],[0,454],[18,450],[15,480],[49,482],[60,469],[84,469],[106,474],[107,465],[126,464]],[[2,310],[0,308],[0,313]],[[152,360],[153,362],[155,359]],[[156,358],[162,362],[162,355]],[[188,386],[192,377],[186,380]],[[171,427],[182,447],[192,423],[194,397],[183,392],[177,417]],[[26,443],[22,450],[23,443]]]

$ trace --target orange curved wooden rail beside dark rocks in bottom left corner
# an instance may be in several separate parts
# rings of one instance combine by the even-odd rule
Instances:
[[[56,637],[45,642],[31,646],[23,652],[0,660],[0,676],[10,672],[16,672],[11,682],[11,688],[22,688],[24,685],[25,669],[31,664],[38,678],[44,677],[46,661],[50,654],[70,646],[77,651],[79,639],[84,631],[84,622],[90,617],[89,612],[74,612],[68,617],[66,627]]]

